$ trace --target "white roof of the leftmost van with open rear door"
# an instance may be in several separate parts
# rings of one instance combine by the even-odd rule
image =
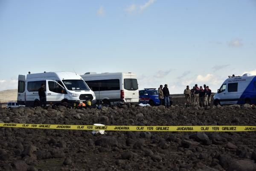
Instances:
[[[75,72],[66,72],[66,71],[58,71],[58,72],[43,72],[43,73],[35,73],[35,74],[28,74],[28,78],[42,78],[42,77],[58,77],[61,80],[66,79],[81,79],[81,76]]]

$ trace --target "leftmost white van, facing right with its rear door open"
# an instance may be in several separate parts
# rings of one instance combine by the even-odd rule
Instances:
[[[47,104],[61,102],[73,103],[90,100],[96,103],[96,97],[80,75],[74,72],[44,72],[19,75],[17,102],[26,106],[39,106],[38,89],[45,85]]]

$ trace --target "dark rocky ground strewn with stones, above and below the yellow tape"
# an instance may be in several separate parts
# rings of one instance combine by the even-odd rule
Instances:
[[[181,100],[183,101],[183,100]],[[250,105],[0,109],[0,122],[67,125],[256,125]],[[180,106],[179,106],[180,104]],[[0,128],[3,171],[256,171],[256,132]]]

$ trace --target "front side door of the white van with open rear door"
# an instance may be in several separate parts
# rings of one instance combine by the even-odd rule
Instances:
[[[56,81],[46,80],[47,104],[61,103],[65,98],[65,89]]]

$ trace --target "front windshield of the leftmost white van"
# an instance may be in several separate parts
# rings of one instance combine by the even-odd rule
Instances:
[[[67,90],[90,90],[83,80],[62,80]]]

